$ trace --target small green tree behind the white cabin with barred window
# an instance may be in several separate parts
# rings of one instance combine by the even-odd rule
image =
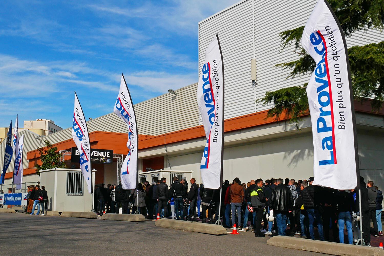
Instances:
[[[40,176],[41,170],[51,168],[66,168],[67,165],[62,162],[60,163],[61,154],[57,152],[57,147],[53,147],[49,140],[44,141],[45,147],[39,147],[37,151],[40,154],[41,165],[36,164],[36,173]]]

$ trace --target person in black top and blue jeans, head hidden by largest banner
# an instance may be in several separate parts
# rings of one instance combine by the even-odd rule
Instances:
[[[338,215],[339,224],[339,240],[340,243],[344,243],[344,223],[347,226],[348,243],[353,244],[353,232],[352,232],[352,209],[355,204],[351,193],[345,190],[339,190],[335,193],[333,207],[336,209]]]

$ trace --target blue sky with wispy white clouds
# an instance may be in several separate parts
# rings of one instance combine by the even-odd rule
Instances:
[[[121,73],[134,103],[198,79],[198,22],[238,0],[3,1],[0,127],[71,125],[113,110]]]

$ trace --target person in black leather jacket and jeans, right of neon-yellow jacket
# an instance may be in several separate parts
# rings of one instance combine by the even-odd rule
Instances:
[[[279,178],[278,185],[273,189],[271,208],[275,211],[278,235],[285,236],[288,212],[293,210],[293,197],[291,190],[284,185],[284,180]]]

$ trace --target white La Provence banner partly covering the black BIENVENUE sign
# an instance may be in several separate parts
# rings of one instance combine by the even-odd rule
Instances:
[[[81,109],[79,99],[75,92],[72,138],[80,152],[80,169],[87,183],[88,193],[92,193],[91,144],[89,143],[88,127],[85,120],[83,109]]]

